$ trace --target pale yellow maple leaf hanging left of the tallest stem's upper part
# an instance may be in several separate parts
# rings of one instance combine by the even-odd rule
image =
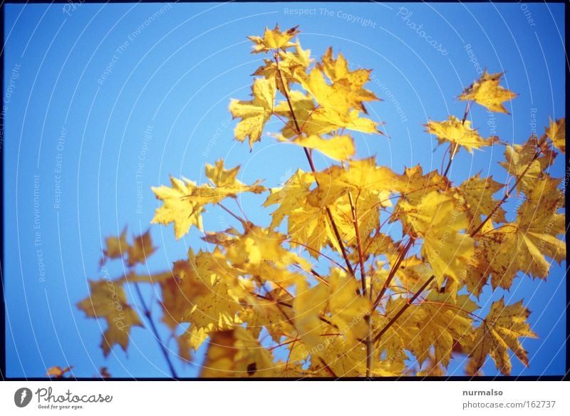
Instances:
[[[252,86],[253,100],[231,100],[229,111],[233,118],[241,118],[234,130],[237,140],[249,137],[249,147],[261,140],[261,133],[271,118],[275,101],[275,79],[257,78]]]

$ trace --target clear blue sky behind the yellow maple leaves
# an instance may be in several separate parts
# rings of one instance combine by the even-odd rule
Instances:
[[[455,97],[478,78],[477,65],[507,71],[504,84],[519,93],[508,105],[512,115],[472,110],[482,135],[494,129],[502,140],[520,143],[530,123],[540,134],[549,115],[565,112],[563,4],[318,3],[304,4],[313,14],[302,16],[289,11],[294,3],[64,6],[6,5],[2,229],[10,377],[41,377],[51,365],[75,365],[78,377],[101,366],[115,376],[167,375],[152,335],[139,328],[128,354],[115,347],[103,358],[105,323],[83,318],[75,305],[88,293],[87,280],[100,277],[105,236],[125,224],[130,233],[147,229],[158,206],[150,187],[167,184],[170,174],[203,182],[204,164],[224,157],[229,166],[242,165],[243,182],[261,177],[276,186],[297,167],[307,169],[302,151],[270,137],[253,152],[232,140],[229,98],[247,98],[261,58],[249,54],[245,36],[264,26],[300,25],[301,44],[316,56],[332,45],[355,66],[373,68],[370,86],[384,101],[371,104],[370,113],[386,122],[390,138],[356,134],[358,155],[376,155],[396,172],[418,162],[425,171],[440,169],[444,147],[435,148],[422,124],[462,116],[464,104]],[[267,127],[278,129],[278,121]],[[460,182],[482,170],[504,181],[501,157],[501,147],[474,157],[461,152],[450,176]],[[554,176],[564,172],[559,159]],[[263,200],[242,202],[249,217],[269,224],[259,211]],[[207,229],[232,221],[211,211]],[[152,227],[152,237],[161,247],[149,261],[152,271],[202,244],[196,230],[177,244],[172,228]],[[565,266],[553,266],[546,282],[518,278],[509,293],[484,291],[484,311],[503,294],[509,302],[524,298],[533,311],[540,338],[524,340],[530,367],[515,359],[513,375],[564,372]],[[110,271],[122,270],[111,264]],[[173,340],[169,345],[176,350]],[[450,374],[462,375],[463,365],[454,360]],[[177,370],[197,375],[194,365]],[[490,359],[484,373],[496,373]]]

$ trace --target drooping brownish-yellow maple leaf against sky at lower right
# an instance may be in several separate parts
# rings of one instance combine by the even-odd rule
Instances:
[[[524,365],[529,365],[527,351],[519,342],[521,337],[537,338],[527,323],[529,315],[530,311],[522,306],[522,301],[509,306],[505,306],[503,298],[493,302],[489,314],[475,330],[475,340],[470,353],[474,361],[472,370],[477,372],[487,355],[490,355],[497,370],[502,375],[510,375],[512,365],[508,349],[512,350]]]

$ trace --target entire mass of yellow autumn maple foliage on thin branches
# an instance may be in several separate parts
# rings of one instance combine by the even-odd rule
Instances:
[[[509,350],[528,365],[521,338],[537,335],[524,303],[501,298],[481,316],[477,301],[485,285],[500,291],[515,276],[546,279],[551,261],[565,259],[564,194],[561,179],[548,173],[565,151],[564,118],[522,145],[482,137],[467,119],[470,108],[507,117],[504,103],[516,97],[500,85],[502,73],[485,71],[460,93],[462,114],[425,122],[448,147],[445,169],[395,172],[375,157],[357,157],[351,136],[382,134],[366,110],[379,99],[366,88],[371,71],[349,69],[331,48],[315,60],[297,33],[277,26],[249,38],[262,65],[252,98],[231,100],[229,111],[236,140],[253,147],[263,136],[298,146],[299,170],[268,188],[240,182],[239,166],[218,160],[206,165],[207,183],[171,177],[153,187],[161,204],[152,223],[173,224],[177,239],[200,233],[209,249],[191,248],[171,270],[148,275],[137,266],[155,251],[149,232],[107,239],[102,265],[120,259],[128,273],[91,281],[90,296],[78,304],[107,321],[105,355],[116,344],[127,350],[130,331],[143,321],[156,333],[151,308],[142,296],[129,301],[124,289],[133,285],[140,294],[139,286],[154,285],[177,358],[192,360],[207,343],[201,377],[445,375],[457,354],[466,358],[467,375],[479,374],[488,356],[509,375]],[[265,134],[270,119],[283,123],[272,137]],[[504,149],[506,184],[482,174],[462,183],[448,177],[458,152],[490,146]],[[331,166],[317,170],[314,152]],[[271,210],[270,224],[247,219],[238,200],[246,192]],[[507,213],[512,197],[522,203]],[[202,214],[214,205],[232,215],[234,227],[204,230]],[[388,233],[391,223],[402,234]],[[168,363],[176,356],[163,352]]]

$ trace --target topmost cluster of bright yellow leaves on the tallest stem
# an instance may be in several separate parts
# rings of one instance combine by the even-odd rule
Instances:
[[[262,38],[249,38],[254,42],[253,53],[271,53],[272,58],[264,59],[264,66],[254,73],[261,78],[254,80],[252,100],[232,100],[229,104],[232,116],[241,119],[234,130],[235,138],[243,142],[249,137],[252,147],[261,140],[269,118],[276,115],[286,120],[279,140],[291,140],[333,159],[346,160],[354,154],[354,145],[351,137],[338,135],[337,130],[379,132],[380,123],[360,116],[367,113],[364,103],[378,100],[371,90],[363,88],[371,71],[350,71],[346,58],[338,53],[335,59],[331,48],[311,66],[310,51],[304,51],[298,41],[291,42],[297,33],[297,28],[281,32],[276,26],[273,30],[266,28]],[[305,93],[292,90],[295,83]],[[284,100],[275,103],[277,90]]]

